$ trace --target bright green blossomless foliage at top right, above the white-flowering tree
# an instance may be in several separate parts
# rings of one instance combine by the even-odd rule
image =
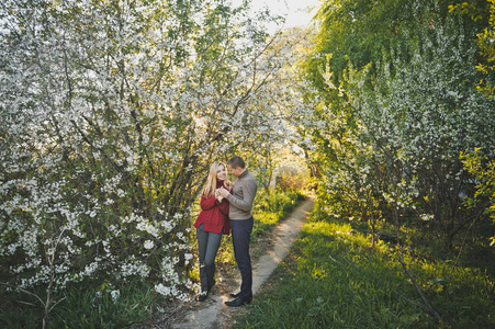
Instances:
[[[320,75],[328,65],[331,82],[339,86],[349,64],[358,69],[382,58],[383,52],[402,48],[404,43],[416,34],[404,35],[404,31],[414,31],[420,21],[428,16],[443,20],[449,9],[461,5],[462,0],[338,0],[324,1],[316,19],[322,23],[316,37],[314,55],[308,57],[305,67],[315,86],[328,91]],[[485,1],[472,1],[470,4],[484,8]],[[458,4],[459,3],[459,4]],[[481,4],[483,3],[483,4]],[[483,20],[485,22],[485,20]],[[483,22],[466,22],[465,29],[480,31]],[[405,49],[404,49],[405,50]],[[407,52],[402,54],[409,58]],[[337,94],[330,93],[333,99]]]

